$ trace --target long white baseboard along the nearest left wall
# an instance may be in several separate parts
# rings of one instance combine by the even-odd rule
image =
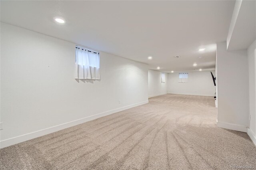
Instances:
[[[124,111],[126,109],[130,109],[132,107],[136,107],[136,106],[139,106],[139,105],[144,105],[146,103],[148,103],[148,101],[143,101],[143,102],[135,103],[135,104],[128,105],[128,106],[125,106],[125,107],[120,107],[118,109],[113,109],[113,110],[106,111],[106,112],[103,112],[103,113],[98,113],[96,115],[84,117],[82,119],[77,119],[75,121],[63,123],[61,125],[56,125],[54,127],[49,127],[49,128],[45,128],[45,129],[42,129],[42,130],[35,131],[35,132],[31,132],[31,133],[23,134],[23,135],[16,136],[16,137],[13,137],[13,138],[9,138],[9,139],[6,139],[6,140],[2,140],[2,141],[0,141],[0,148],[4,148],[4,147],[7,147],[7,146],[10,146],[10,145],[13,145],[13,144],[24,142],[26,140],[30,140],[30,139],[37,138],[37,137],[40,137],[40,136],[43,136],[43,135],[46,135],[46,134],[50,134],[52,132],[57,132],[58,130],[62,130],[62,129],[69,128],[69,127],[72,127],[72,126],[75,126],[75,125],[79,125],[81,123],[92,121],[94,119],[97,119],[97,118],[100,118],[100,117],[103,117],[103,116],[107,116],[107,115],[111,115],[113,113],[117,113],[117,112],[120,112],[120,111]]]

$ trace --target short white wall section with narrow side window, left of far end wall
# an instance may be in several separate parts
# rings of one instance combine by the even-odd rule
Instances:
[[[148,69],[148,97],[167,94],[168,73],[165,83],[161,83],[161,72]]]

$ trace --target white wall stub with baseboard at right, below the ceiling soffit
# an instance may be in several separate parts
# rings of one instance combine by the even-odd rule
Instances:
[[[247,131],[249,80],[247,51],[227,51],[226,42],[217,43],[218,127]]]

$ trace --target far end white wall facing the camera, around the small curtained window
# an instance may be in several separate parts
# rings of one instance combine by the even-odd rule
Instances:
[[[212,71],[215,75],[215,71]],[[168,93],[214,96],[215,86],[210,71],[188,72],[188,83],[179,83],[179,73],[168,73]]]

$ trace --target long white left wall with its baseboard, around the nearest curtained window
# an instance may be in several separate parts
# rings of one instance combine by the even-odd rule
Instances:
[[[148,65],[100,51],[76,81],[75,45],[1,23],[1,147],[148,102]]]

